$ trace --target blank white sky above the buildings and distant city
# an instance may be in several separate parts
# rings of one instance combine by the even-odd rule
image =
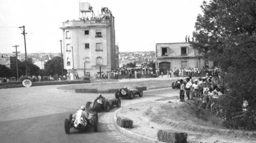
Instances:
[[[108,7],[115,17],[116,45],[120,52],[155,51],[156,43],[184,42],[195,30],[203,0],[80,0],[89,2],[95,15]],[[0,0],[0,53],[14,45],[25,53],[60,53],[66,20],[78,20],[79,0]]]

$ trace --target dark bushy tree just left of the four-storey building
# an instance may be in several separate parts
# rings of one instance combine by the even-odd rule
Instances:
[[[48,60],[45,64],[44,64],[44,73],[45,75],[56,75],[59,76],[61,75],[61,57],[54,57],[51,60]]]

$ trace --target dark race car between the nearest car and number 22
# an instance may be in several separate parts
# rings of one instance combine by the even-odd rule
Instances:
[[[105,97],[99,95],[92,102],[86,103],[86,109],[89,111],[105,111],[108,112],[111,106],[116,105],[117,107],[121,106],[120,99],[106,99]]]

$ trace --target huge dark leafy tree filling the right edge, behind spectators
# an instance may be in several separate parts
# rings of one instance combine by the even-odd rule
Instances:
[[[247,129],[256,129],[255,7],[255,0],[203,2],[203,15],[198,15],[193,32],[196,42],[191,42],[193,48],[217,62],[222,70],[227,90],[220,104],[229,126]],[[244,101],[248,101],[246,112],[242,107]],[[244,118],[236,118],[241,112],[249,122],[247,125]]]

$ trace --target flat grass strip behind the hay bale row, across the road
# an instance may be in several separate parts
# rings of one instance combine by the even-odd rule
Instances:
[[[75,90],[75,89],[100,89],[100,90],[108,90],[114,88],[121,88],[121,87],[129,87],[133,88],[134,86],[146,86],[148,88],[161,88],[170,86],[172,82],[176,80],[148,80],[148,81],[128,81],[128,82],[102,82],[102,83],[95,83],[95,84],[83,84],[83,85],[68,85],[63,87],[58,87],[61,90]]]

